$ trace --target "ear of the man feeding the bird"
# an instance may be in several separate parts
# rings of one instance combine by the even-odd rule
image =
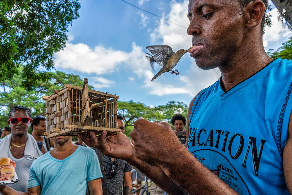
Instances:
[[[244,8],[244,17],[246,19],[246,27],[253,28],[260,25],[265,14],[265,4],[263,1],[256,0],[250,2]]]

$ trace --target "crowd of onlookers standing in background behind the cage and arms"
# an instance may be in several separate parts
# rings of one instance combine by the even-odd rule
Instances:
[[[117,118],[124,134],[124,120],[120,115]],[[183,115],[171,121],[176,134],[185,131]],[[32,118],[29,108],[13,107],[7,122],[9,127],[0,131],[0,158],[15,161],[19,181],[0,185],[0,194],[132,194],[133,180],[138,185],[145,180],[127,161],[105,156],[79,138],[75,143],[65,136],[46,139],[46,119]]]

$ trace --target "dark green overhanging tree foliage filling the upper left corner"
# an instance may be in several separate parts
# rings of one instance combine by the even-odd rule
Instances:
[[[50,75],[54,52],[60,51],[67,40],[67,27],[79,17],[78,0],[0,1],[0,84],[19,74],[19,83],[34,89]]]

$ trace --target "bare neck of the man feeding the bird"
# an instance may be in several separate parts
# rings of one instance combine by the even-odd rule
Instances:
[[[252,48],[245,45],[241,46],[230,59],[229,62],[218,67],[225,92],[252,76],[273,60],[266,54],[262,42],[254,44]]]

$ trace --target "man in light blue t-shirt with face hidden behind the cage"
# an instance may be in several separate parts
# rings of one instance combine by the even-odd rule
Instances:
[[[71,137],[52,138],[55,148],[36,159],[29,170],[28,194],[102,194],[100,164],[95,152],[72,143]],[[0,187],[2,194],[22,194]]]

